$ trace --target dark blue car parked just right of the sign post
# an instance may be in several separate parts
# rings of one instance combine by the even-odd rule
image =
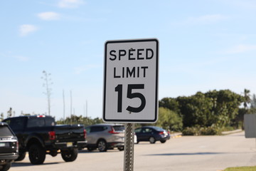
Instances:
[[[156,141],[164,143],[171,137],[167,130],[156,126],[144,126],[142,128],[137,128],[135,129],[135,134],[137,135],[137,143],[140,141],[149,141],[151,144]]]

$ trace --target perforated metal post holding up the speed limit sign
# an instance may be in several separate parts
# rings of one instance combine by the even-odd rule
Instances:
[[[126,123],[124,137],[124,171],[134,170],[134,123]]]

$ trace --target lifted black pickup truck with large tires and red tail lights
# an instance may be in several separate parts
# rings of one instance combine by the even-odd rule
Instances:
[[[55,125],[48,115],[19,116],[3,120],[18,138],[18,161],[28,152],[33,165],[41,165],[46,154],[55,157],[58,152],[65,162],[73,162],[78,150],[86,146],[86,130],[83,125]]]

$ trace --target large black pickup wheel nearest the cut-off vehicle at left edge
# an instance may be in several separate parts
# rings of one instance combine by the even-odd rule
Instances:
[[[29,160],[33,165],[41,165],[46,160],[46,151],[41,145],[31,145],[28,150]]]

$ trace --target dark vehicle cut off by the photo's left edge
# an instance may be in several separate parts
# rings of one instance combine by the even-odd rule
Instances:
[[[7,123],[0,122],[0,171],[9,170],[18,158],[18,139]]]

